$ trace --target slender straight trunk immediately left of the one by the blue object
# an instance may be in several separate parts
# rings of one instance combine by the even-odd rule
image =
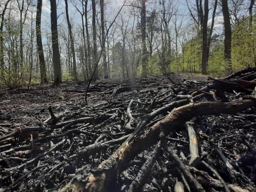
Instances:
[[[99,78],[99,71],[98,71],[98,66],[97,66],[97,61],[98,61],[98,53],[97,53],[97,37],[96,37],[96,5],[95,5],[95,0],[92,0],[92,9],[93,9],[93,19],[92,19],[92,24],[93,24],[93,68],[95,70],[94,74],[94,79]]]

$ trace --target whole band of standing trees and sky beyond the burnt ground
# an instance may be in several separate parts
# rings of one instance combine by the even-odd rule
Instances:
[[[50,0],[42,21],[42,0],[1,1],[0,83],[132,81],[256,66],[255,0],[127,0],[110,28],[115,1],[58,3]]]

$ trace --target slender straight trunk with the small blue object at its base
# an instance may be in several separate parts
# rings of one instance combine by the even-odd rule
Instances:
[[[108,78],[108,65],[105,50],[105,29],[104,29],[104,0],[100,0],[100,22],[101,22],[101,39],[102,39],[102,57],[104,66],[104,78]]]

